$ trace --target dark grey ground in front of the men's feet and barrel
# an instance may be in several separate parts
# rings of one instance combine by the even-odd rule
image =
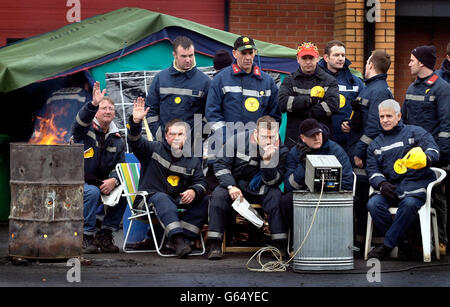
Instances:
[[[119,254],[83,255],[79,275],[76,275],[74,267],[68,266],[66,261],[12,264],[7,257],[8,232],[7,224],[0,224],[0,287],[193,287],[194,292],[201,292],[197,287],[450,286],[450,256],[443,256],[440,261],[433,258],[431,263],[386,260],[377,266],[355,254],[353,270],[299,273],[291,266],[285,272],[269,273],[248,270],[247,262],[253,253],[227,253],[220,261],[209,261],[206,255],[177,259],[160,257],[156,253],[126,254],[121,251]],[[122,238],[120,231],[115,236],[117,245],[121,246]],[[271,260],[265,256],[262,262]],[[260,267],[255,260],[249,266]],[[80,282],[76,282],[77,276]],[[182,300],[182,295],[180,293],[173,299]]]

